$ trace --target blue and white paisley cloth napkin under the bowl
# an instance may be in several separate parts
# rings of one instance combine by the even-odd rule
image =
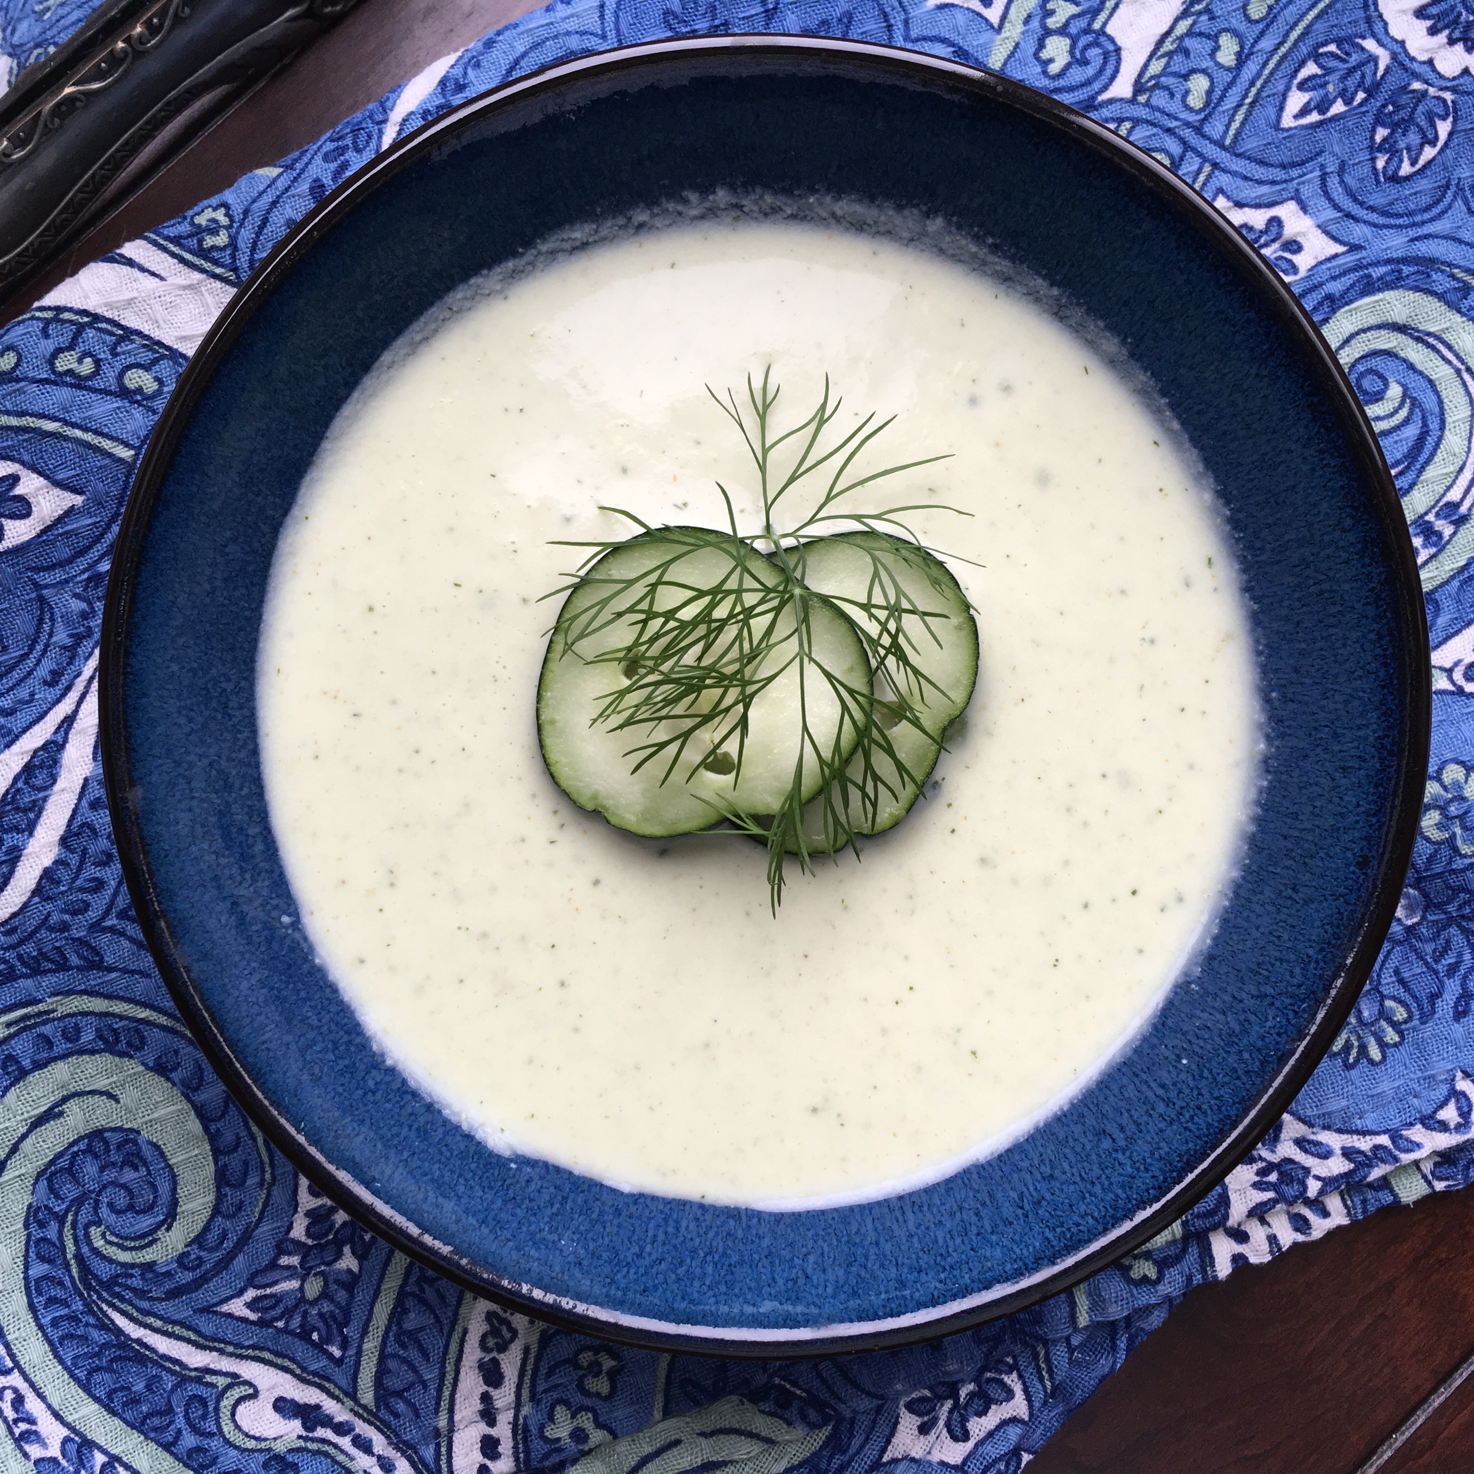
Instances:
[[[90,6],[0,0],[0,85]],[[338,1212],[181,1029],[128,907],[96,753],[103,585],[133,469],[265,252],[379,149],[510,77],[758,29],[1004,71],[1203,190],[1300,293],[1383,436],[1436,666],[1397,921],[1290,1114],[1187,1218],[1072,1293],[843,1362],[724,1363],[556,1331]],[[1468,1182],[1471,177],[1474,0],[557,0],[0,329],[0,1470],[1014,1474],[1194,1285]],[[1335,824],[1332,780],[1304,802]]]

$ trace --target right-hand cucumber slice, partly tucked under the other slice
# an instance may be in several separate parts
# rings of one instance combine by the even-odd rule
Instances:
[[[859,625],[876,666],[876,730],[849,761],[845,784],[803,814],[805,848],[827,855],[850,834],[880,834],[911,811],[936,766],[942,734],[977,684],[977,624],[945,563],[884,532],[842,532],[805,544],[802,576]],[[886,619],[898,604],[899,637],[893,618]],[[896,659],[896,646],[909,671]],[[905,696],[915,722],[902,718],[887,694]]]

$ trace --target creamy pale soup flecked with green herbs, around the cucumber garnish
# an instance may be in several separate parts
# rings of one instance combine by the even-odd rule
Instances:
[[[414,335],[411,335],[414,336]],[[977,688],[864,859],[638,839],[538,750],[582,550],[761,528],[706,392],[780,426],[895,414],[873,464],[976,607]],[[964,562],[965,560],[965,562]],[[1257,709],[1191,454],[1021,292],[814,224],[652,230],[457,293],[345,407],[283,531],[259,647],[267,797],[318,955],[383,1051],[501,1150],[743,1204],[935,1179],[1060,1104],[1212,926]]]

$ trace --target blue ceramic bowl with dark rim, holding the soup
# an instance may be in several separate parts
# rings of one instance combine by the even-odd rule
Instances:
[[[277,532],[339,407],[433,302],[554,230],[722,186],[942,215],[1125,345],[1222,491],[1268,750],[1197,986],[1007,1150],[917,1191],[756,1212],[498,1157],[373,1049],[314,963],[267,821],[255,654]],[[958,1330],[1082,1278],[1278,1117],[1365,980],[1412,846],[1428,650],[1377,442],[1278,276],[1116,134],[880,47],[594,57],[427,125],[329,196],[195,355],[139,472],[103,640],[133,898],[242,1104],[451,1278],[637,1343],[796,1355]],[[1327,822],[1325,809],[1334,809]]]

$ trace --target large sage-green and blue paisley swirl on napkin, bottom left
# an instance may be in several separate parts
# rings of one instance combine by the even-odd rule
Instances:
[[[357,1436],[366,1471],[419,1467],[361,1409],[342,1433],[332,1387],[180,1324],[243,1278],[280,1164],[177,1020],[88,993],[13,1008],[0,1079],[0,1220],[24,1225],[0,1327],[25,1384],[0,1409],[22,1450],[71,1440],[140,1474],[227,1455],[287,1474],[342,1468],[327,1446]]]

